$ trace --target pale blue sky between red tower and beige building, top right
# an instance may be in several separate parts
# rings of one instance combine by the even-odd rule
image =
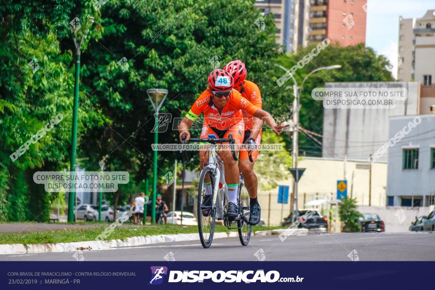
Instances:
[[[427,10],[435,9],[434,0],[368,0],[366,45],[384,54],[397,74],[397,42],[399,16],[420,18]]]

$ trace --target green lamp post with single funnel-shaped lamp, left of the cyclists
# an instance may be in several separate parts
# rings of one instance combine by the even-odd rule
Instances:
[[[163,88],[150,88],[146,90],[148,97],[151,100],[155,114],[154,124],[154,144],[158,144],[158,126],[159,126],[159,110],[168,95],[168,90]],[[151,223],[156,223],[156,194],[157,194],[157,148],[154,149],[154,176],[153,176],[153,202],[151,205]]]

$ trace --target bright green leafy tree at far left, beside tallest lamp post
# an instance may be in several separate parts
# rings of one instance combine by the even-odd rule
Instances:
[[[96,11],[87,1],[21,0],[0,6],[1,221],[46,221],[58,196],[33,186],[33,173],[68,164],[74,70],[60,39],[69,33],[71,16],[82,13]],[[88,123],[98,115],[92,108],[80,114]],[[44,129],[56,116],[61,121]]]

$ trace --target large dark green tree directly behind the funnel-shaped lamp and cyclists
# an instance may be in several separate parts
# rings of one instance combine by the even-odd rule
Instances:
[[[150,175],[154,111],[148,88],[169,90],[161,112],[170,113],[173,122],[159,134],[159,143],[177,143],[175,118],[187,113],[214,68],[242,59],[250,80],[270,83],[267,72],[273,70],[272,60],[278,55],[275,26],[271,16],[265,16],[261,18],[265,28],[259,29],[256,20],[261,14],[253,3],[117,0],[104,4],[102,39],[91,42],[82,57],[83,83],[92,92],[89,106],[106,117],[82,136],[80,155],[87,157],[86,167],[97,166],[98,158],[107,154],[111,170],[135,172],[131,182],[139,184]],[[118,62],[123,58],[128,65],[121,67]],[[160,184],[177,156],[178,152],[159,152]],[[189,165],[196,168],[198,163]],[[127,190],[121,191],[118,200],[128,195]]]

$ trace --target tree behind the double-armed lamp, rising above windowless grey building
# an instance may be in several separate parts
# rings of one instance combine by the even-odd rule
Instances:
[[[302,60],[315,46],[310,45],[300,49],[298,52],[281,55],[277,58],[276,63],[287,69],[292,68]],[[342,68],[319,71],[310,76],[304,84],[304,90],[301,95],[300,123],[311,131],[322,134],[323,126],[323,104],[321,101],[315,101],[311,97],[311,90],[315,87],[324,87],[326,82],[390,82],[394,81],[391,70],[392,65],[384,55],[377,55],[373,48],[366,47],[364,43],[353,46],[342,47],[338,42],[333,42],[323,49],[302,69],[298,69],[295,78],[301,85],[304,77],[312,70],[338,64]],[[276,81],[284,74],[280,68],[275,68],[275,74],[272,78]],[[289,116],[293,101],[291,90],[284,90],[286,86],[293,85],[290,79],[280,89],[276,89],[276,94],[269,100],[269,105],[282,116]],[[285,141],[290,144],[291,140],[285,136]],[[300,151],[305,151],[308,155],[321,156],[321,145],[312,141],[305,134],[300,134],[299,138]]]

